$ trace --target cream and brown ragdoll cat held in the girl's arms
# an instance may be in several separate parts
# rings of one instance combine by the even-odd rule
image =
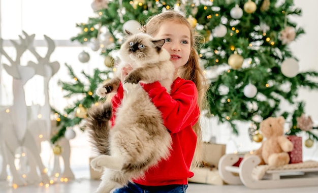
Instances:
[[[133,67],[124,79],[124,95],[113,127],[109,124],[112,116],[109,102],[88,112],[86,126],[90,141],[102,154],[91,161],[94,170],[104,170],[99,193],[108,193],[133,178],[143,177],[149,167],[170,156],[170,133],[163,124],[161,112],[140,85],[140,82],[160,81],[170,92],[175,68],[169,52],[162,48],[164,43],[164,39],[154,40],[143,33],[129,36],[119,50],[118,74],[97,90],[100,97],[116,92],[121,68],[126,64]]]

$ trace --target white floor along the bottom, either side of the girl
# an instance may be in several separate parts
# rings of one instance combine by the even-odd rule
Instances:
[[[34,185],[28,185],[23,187],[18,187],[17,189],[13,189],[8,187],[4,182],[0,182],[0,192],[1,193],[88,193],[94,192],[99,185],[99,181],[97,180],[89,180],[89,179],[77,179],[68,183],[57,183],[50,185],[48,188],[39,187]],[[197,184],[197,183],[189,183],[189,187],[187,189],[187,193],[205,193],[205,192],[258,192],[258,193],[280,193],[280,192],[288,192],[288,193],[298,193],[298,192],[317,192],[318,190],[318,182],[317,186],[311,187],[297,187],[297,188],[279,188],[279,189],[250,189],[243,185],[207,185],[207,184]]]

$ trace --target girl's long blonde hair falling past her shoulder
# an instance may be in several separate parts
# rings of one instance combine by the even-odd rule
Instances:
[[[198,105],[200,111],[207,108],[207,99],[206,99],[206,91],[208,89],[208,84],[204,77],[203,69],[200,67],[199,64],[199,55],[196,51],[197,43],[196,41],[199,36],[199,33],[196,33],[195,30],[192,28],[190,23],[187,19],[177,13],[175,11],[166,11],[160,14],[157,14],[148,19],[146,25],[144,26],[144,32],[149,34],[150,36],[155,36],[161,27],[161,24],[167,21],[174,21],[181,24],[186,25],[190,30],[190,45],[191,51],[190,56],[186,64],[179,69],[178,76],[185,80],[193,81],[198,89]],[[195,165],[197,166],[201,162],[201,144],[202,144],[202,130],[200,121],[198,121],[193,127],[195,133],[197,134],[197,148],[195,154]]]

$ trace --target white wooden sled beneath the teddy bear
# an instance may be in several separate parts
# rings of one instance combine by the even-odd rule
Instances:
[[[233,166],[238,160],[237,154],[226,154],[219,160],[220,177],[228,184],[244,184],[259,189],[318,185],[318,162],[308,161],[274,168],[259,166],[260,158],[250,155],[242,160],[239,167]]]

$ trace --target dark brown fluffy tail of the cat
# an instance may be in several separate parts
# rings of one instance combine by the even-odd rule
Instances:
[[[88,111],[85,127],[88,130],[90,142],[100,154],[109,155],[109,120],[112,116],[111,103],[92,106]]]

